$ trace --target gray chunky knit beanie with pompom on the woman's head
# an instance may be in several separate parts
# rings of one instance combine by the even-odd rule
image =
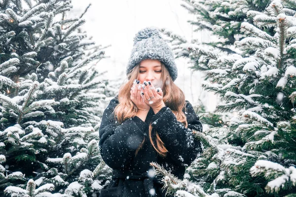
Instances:
[[[128,61],[128,74],[142,60],[159,60],[169,70],[173,81],[178,76],[174,55],[169,45],[162,39],[156,28],[145,28],[134,37],[134,48]]]

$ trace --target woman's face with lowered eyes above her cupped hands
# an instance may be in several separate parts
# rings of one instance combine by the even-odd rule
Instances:
[[[151,81],[155,88],[162,89],[162,81],[161,81],[161,64],[158,60],[143,60],[140,63],[140,71],[138,80],[141,84],[144,81]]]

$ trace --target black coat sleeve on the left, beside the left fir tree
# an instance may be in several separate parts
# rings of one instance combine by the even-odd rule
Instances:
[[[116,97],[110,101],[99,129],[101,156],[113,169],[121,169],[131,162],[148,129],[148,124],[137,116],[118,124],[113,112],[117,104]]]

